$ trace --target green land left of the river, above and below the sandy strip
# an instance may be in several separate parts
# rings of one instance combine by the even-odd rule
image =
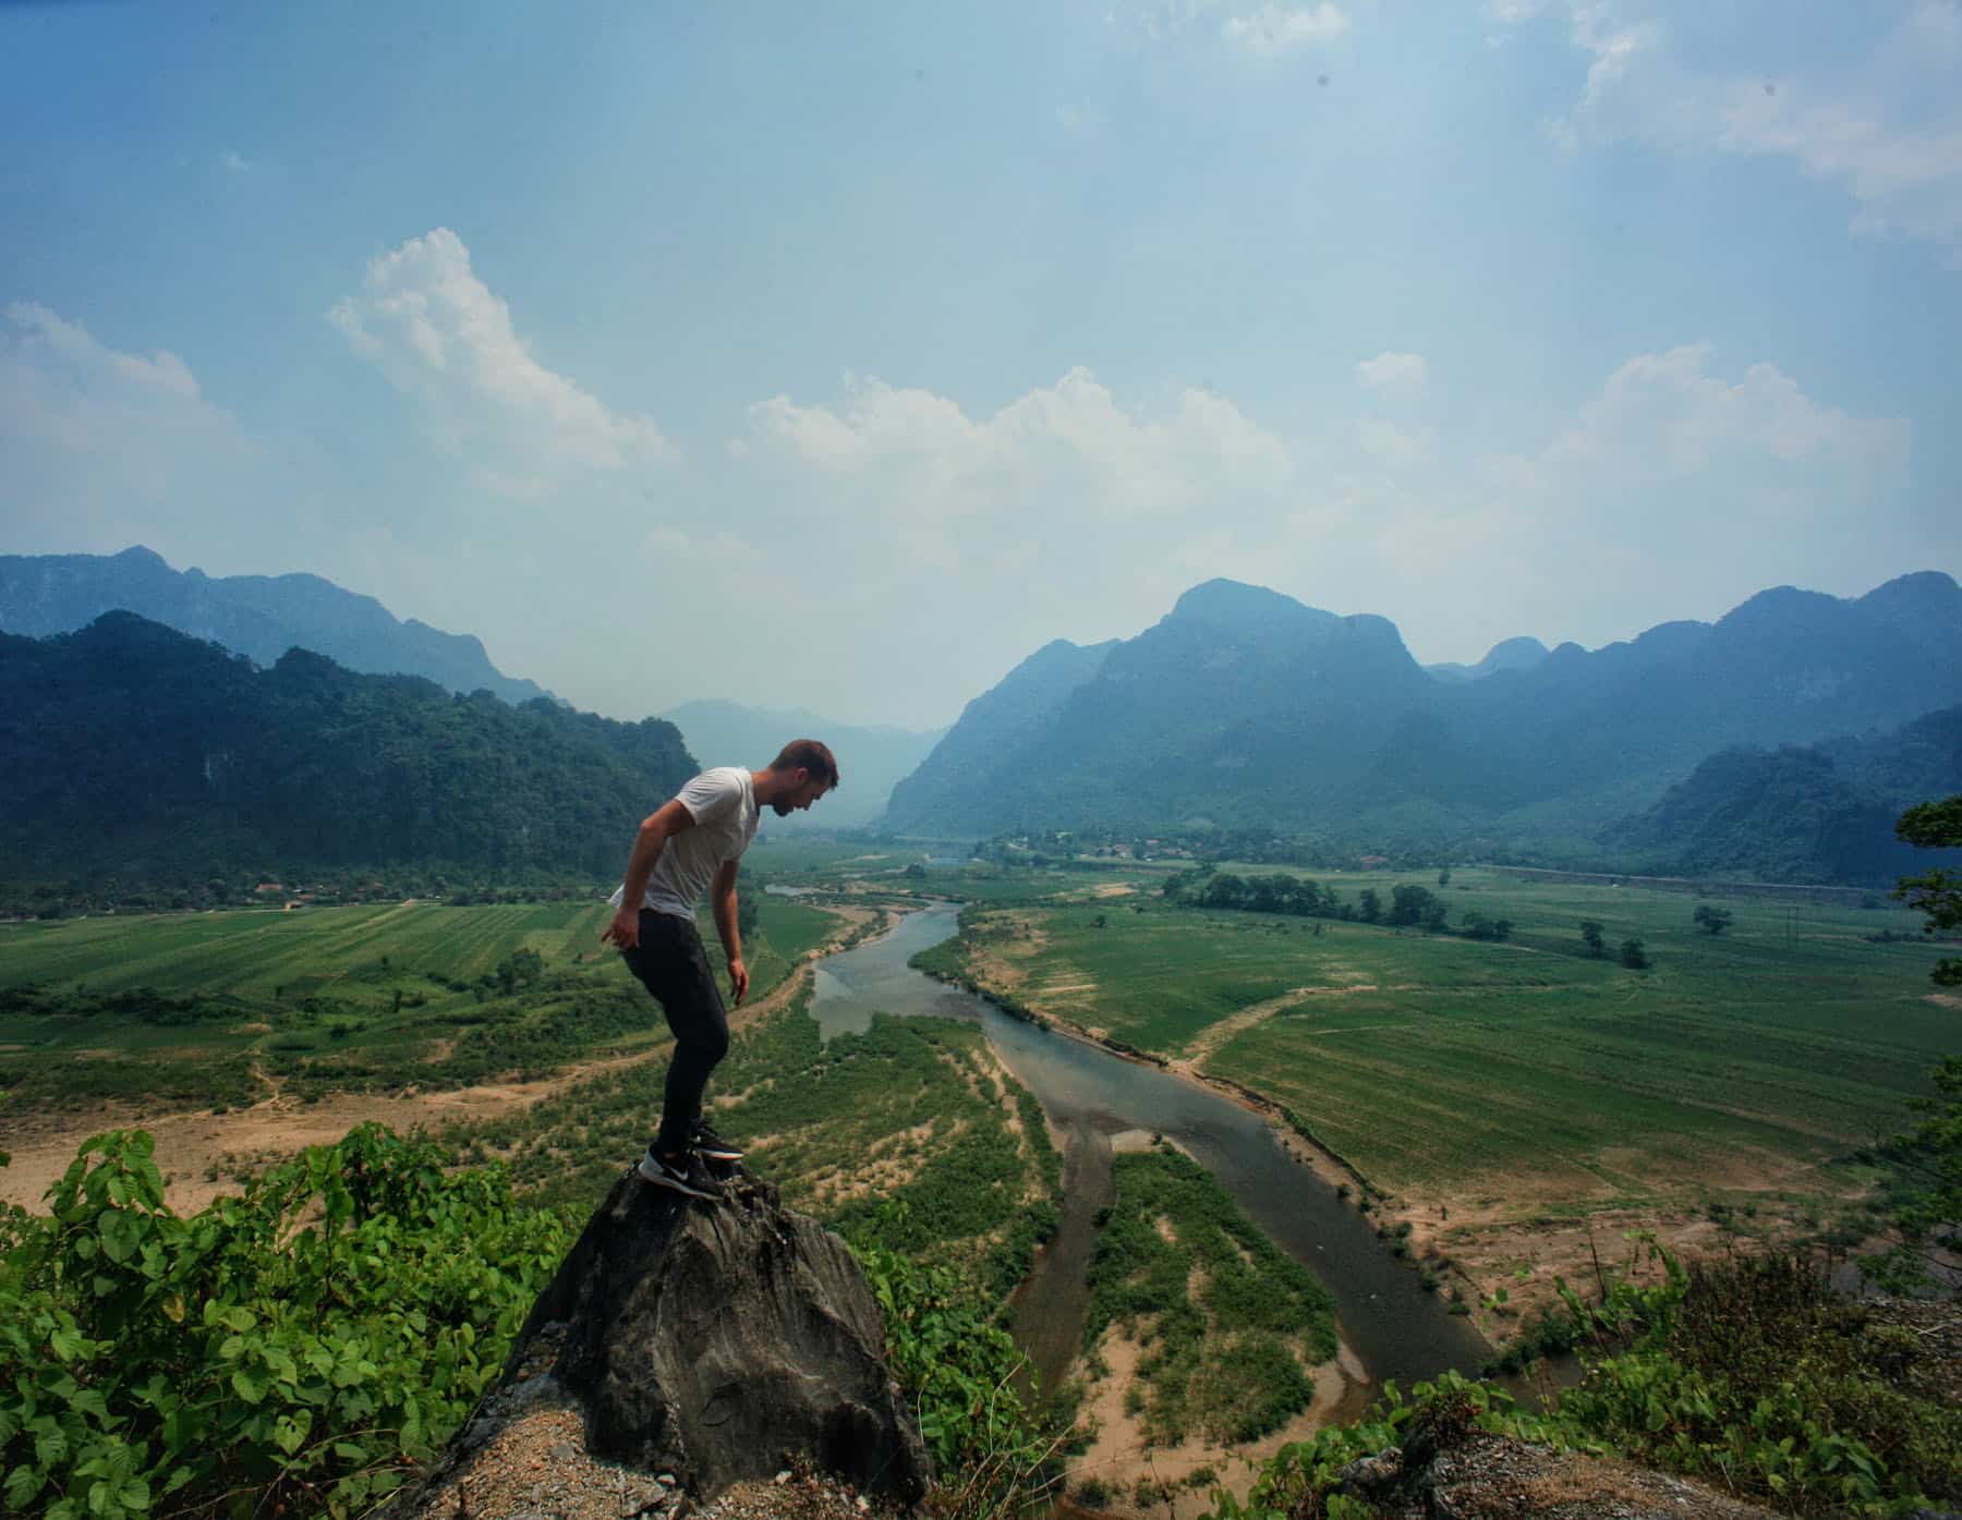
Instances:
[[[453,1087],[647,1053],[443,1136],[508,1159],[528,1200],[583,1212],[645,1143],[667,1075],[657,1004],[598,941],[608,916],[604,902],[418,902],[0,926],[0,1112]],[[838,928],[763,896],[744,945],[751,1000]],[[706,918],[702,937],[722,975]],[[524,951],[538,959],[516,977]],[[736,1036],[710,1096],[791,1202],[957,1263],[993,1298],[1052,1228],[1059,1157],[973,1026],[879,1018],[820,1045],[797,998]]]

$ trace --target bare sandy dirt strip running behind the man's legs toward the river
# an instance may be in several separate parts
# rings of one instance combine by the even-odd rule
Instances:
[[[732,1030],[748,1028],[789,1006],[808,987],[810,969],[822,955],[865,926],[887,918],[877,908],[824,908],[824,912],[840,918],[838,930],[816,949],[804,951],[797,969],[777,987],[755,1002],[732,1010]],[[47,1191],[67,1173],[82,1141],[104,1130],[143,1128],[157,1140],[155,1155],[165,1175],[165,1202],[179,1214],[194,1214],[220,1192],[237,1191],[230,1171],[243,1157],[259,1165],[294,1155],[308,1145],[332,1145],[357,1124],[371,1120],[387,1124],[396,1134],[436,1130],[453,1122],[487,1126],[594,1077],[665,1059],[669,1047],[663,1039],[632,1055],[581,1061],[530,1083],[479,1083],[434,1092],[414,1087],[402,1092],[339,1092],[318,1102],[284,1094],[279,1083],[263,1077],[271,1096],[226,1114],[214,1114],[210,1108],[153,1114],[133,1104],[104,1104],[61,1114],[6,1114],[0,1149],[12,1155],[12,1163],[0,1167],[0,1202],[41,1210]]]

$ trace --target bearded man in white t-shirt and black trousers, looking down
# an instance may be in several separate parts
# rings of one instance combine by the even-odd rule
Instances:
[[[755,837],[765,806],[789,818],[836,785],[832,751],[816,739],[793,739],[767,771],[702,771],[640,826],[626,881],[610,898],[612,924],[600,932],[600,941],[620,947],[675,1032],[661,1130],[640,1159],[640,1175],[655,1187],[720,1198],[722,1185],[702,1163],[742,1155],[702,1122],[702,1089],[728,1053],[730,1024],[695,930],[695,904],[708,887],[716,934],[730,961],[730,988],[742,1006],[749,971],[736,930],[736,863]]]

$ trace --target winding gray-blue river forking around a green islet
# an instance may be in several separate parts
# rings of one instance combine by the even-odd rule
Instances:
[[[1044,1387],[1056,1387],[1083,1338],[1095,1214],[1112,1198],[1110,1141],[1126,1132],[1162,1134],[1185,1147],[1275,1245],[1328,1287],[1342,1338],[1371,1383],[1393,1377],[1409,1387],[1448,1367],[1477,1375],[1491,1347],[1470,1320],[1424,1292],[1373,1226],[1293,1161],[1258,1114],[1169,1071],[1024,1024],[906,965],[957,928],[959,908],[936,904],[828,955],[810,1006],[826,1039],[871,1028],[873,1012],[979,1022],[1063,1136],[1061,1228],[1014,1296],[1014,1334]]]

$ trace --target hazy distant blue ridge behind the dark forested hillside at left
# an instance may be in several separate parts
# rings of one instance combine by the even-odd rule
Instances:
[[[210,577],[175,571],[141,545],[118,555],[0,555],[0,632],[73,633],[116,610],[222,643],[257,665],[310,649],[349,671],[420,675],[453,692],[489,690],[506,702],[547,694],[498,671],[473,635],[404,622],[373,596],[318,575]]]

